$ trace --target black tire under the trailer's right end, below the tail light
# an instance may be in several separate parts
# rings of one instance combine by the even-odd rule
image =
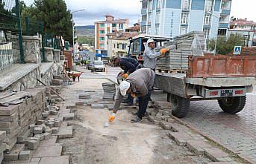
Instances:
[[[246,96],[227,97],[218,99],[219,107],[228,114],[237,114],[242,111],[246,105]]]

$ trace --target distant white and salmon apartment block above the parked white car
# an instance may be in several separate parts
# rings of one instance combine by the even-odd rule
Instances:
[[[95,22],[96,56],[107,55],[107,33],[125,31],[128,25],[129,19],[114,19],[111,15],[106,15],[104,21]]]

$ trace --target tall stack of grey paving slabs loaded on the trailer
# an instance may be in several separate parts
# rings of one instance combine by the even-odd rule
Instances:
[[[174,42],[166,42],[163,46],[169,48],[169,53],[157,61],[157,70],[187,70],[188,56],[203,56],[205,46],[202,32],[194,31],[176,36]]]

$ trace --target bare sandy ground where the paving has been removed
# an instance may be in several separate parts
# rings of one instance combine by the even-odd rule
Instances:
[[[62,94],[75,102],[78,91],[96,91],[92,103],[101,102],[102,79],[82,79],[69,85]],[[66,90],[66,91],[65,91]],[[68,91],[68,92],[67,92]],[[88,99],[87,99],[88,102]],[[69,122],[74,128],[72,139],[59,140],[63,154],[71,156],[71,163],[207,163],[205,157],[193,155],[185,147],[175,144],[158,125],[147,119],[131,123],[132,108],[119,111],[115,122],[104,128],[110,114],[107,109],[84,106],[77,108],[76,119]]]

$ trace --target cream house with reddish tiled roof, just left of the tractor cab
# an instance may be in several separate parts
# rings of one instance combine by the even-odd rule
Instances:
[[[139,33],[128,33],[123,31],[116,31],[107,33],[107,57],[113,56],[127,56],[128,55],[128,39],[137,36]]]

